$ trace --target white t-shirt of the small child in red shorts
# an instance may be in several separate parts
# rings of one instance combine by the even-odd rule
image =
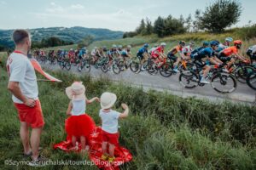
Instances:
[[[100,111],[100,117],[102,118],[102,130],[107,133],[118,133],[120,113],[110,110],[105,112]]]

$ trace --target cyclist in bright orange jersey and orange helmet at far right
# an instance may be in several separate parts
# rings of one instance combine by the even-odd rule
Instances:
[[[235,58],[241,59],[243,62],[247,62],[247,59],[242,57],[240,54],[238,54],[238,50],[241,48],[241,40],[236,40],[234,41],[234,46],[229,47],[229,48],[224,48],[218,54],[218,59],[220,59],[222,62],[227,63],[227,67],[229,68],[230,65],[232,65],[235,62],[235,59],[232,57],[234,56]]]

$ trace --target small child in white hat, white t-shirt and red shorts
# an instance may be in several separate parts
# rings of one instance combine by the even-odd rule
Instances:
[[[119,118],[127,117],[129,113],[129,108],[125,104],[122,104],[122,107],[125,110],[123,113],[111,109],[116,99],[115,94],[108,92],[103,93],[101,96],[102,160],[108,160],[109,162],[114,161],[114,148],[119,144],[118,120]],[[109,150],[107,151],[108,144]]]

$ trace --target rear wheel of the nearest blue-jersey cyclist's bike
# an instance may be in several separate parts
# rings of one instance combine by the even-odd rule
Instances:
[[[178,81],[184,88],[195,88],[198,86],[200,78],[194,71],[183,71],[180,73]]]

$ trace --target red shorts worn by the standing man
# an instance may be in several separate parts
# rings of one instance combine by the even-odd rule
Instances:
[[[44,127],[44,117],[39,99],[36,100],[34,107],[18,103],[15,103],[15,107],[19,113],[20,122],[26,122],[32,128]]]

